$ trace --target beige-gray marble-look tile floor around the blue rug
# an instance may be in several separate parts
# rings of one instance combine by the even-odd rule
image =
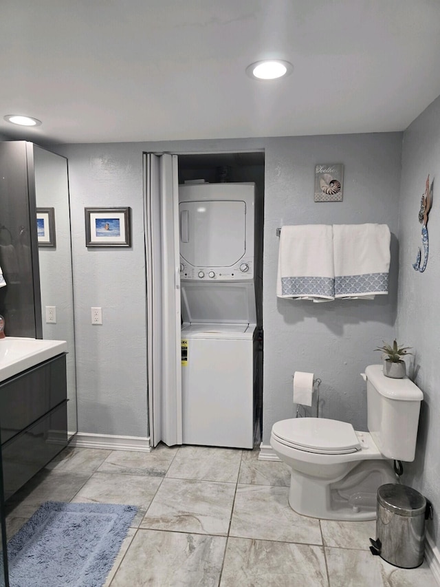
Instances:
[[[371,555],[375,522],[295,513],[289,470],[258,454],[68,447],[8,502],[8,537],[46,500],[134,504],[104,587],[437,587],[426,562],[401,569]]]

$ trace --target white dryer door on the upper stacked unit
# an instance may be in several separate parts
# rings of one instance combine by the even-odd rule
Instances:
[[[245,255],[245,202],[181,202],[179,220],[180,255],[190,266],[229,268]]]

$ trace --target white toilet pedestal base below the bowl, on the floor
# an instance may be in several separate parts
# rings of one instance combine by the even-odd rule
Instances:
[[[296,513],[323,520],[375,520],[377,489],[395,482],[385,460],[353,462],[353,469],[333,482],[292,470],[289,504]]]

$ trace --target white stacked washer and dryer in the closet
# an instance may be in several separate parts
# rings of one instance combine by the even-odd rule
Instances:
[[[254,446],[255,204],[253,183],[179,186],[184,444]]]

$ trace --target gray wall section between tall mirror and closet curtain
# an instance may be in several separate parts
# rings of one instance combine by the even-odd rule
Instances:
[[[69,160],[78,431],[147,436],[142,148],[54,147]],[[131,206],[133,246],[85,246],[85,207]],[[102,325],[90,308],[102,307]]]

